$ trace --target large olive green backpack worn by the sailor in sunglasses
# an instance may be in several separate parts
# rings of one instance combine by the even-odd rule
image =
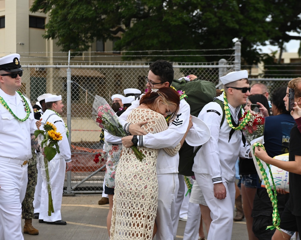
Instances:
[[[187,103],[190,106],[190,114],[197,117],[202,108],[209,102],[217,102],[224,109],[224,103],[220,100],[213,100],[216,96],[216,88],[213,82],[195,79],[194,81],[185,81],[185,79],[174,79],[172,86],[181,91],[185,91],[188,96]],[[221,126],[225,119],[225,111],[223,111]],[[179,174],[184,176],[193,176],[192,165],[194,163],[194,157],[197,151],[201,148],[198,146],[195,151],[194,147],[188,145],[184,141],[182,148],[179,151]]]

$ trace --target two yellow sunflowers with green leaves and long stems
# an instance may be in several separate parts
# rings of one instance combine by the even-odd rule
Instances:
[[[57,128],[51,122],[46,122],[43,125],[43,129],[44,130],[36,130],[34,135],[36,138],[39,137],[39,142],[41,142],[41,148],[43,149],[43,155],[40,154],[39,158],[42,159],[41,165],[44,166],[42,169],[45,170],[45,181],[48,190],[48,216],[51,216],[51,213],[54,212],[54,209],[51,196],[48,162],[50,162],[57,153],[60,153],[58,141],[61,141],[63,137],[61,133],[57,132]],[[44,176],[44,174],[42,174],[42,176]]]

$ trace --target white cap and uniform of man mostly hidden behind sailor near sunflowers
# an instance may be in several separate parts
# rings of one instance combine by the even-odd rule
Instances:
[[[51,93],[44,93],[42,95],[40,95],[37,100],[38,102],[45,100],[45,98],[50,97],[52,94]],[[34,114],[35,119],[39,120],[42,118],[42,115],[44,114],[43,110],[40,109],[38,111],[39,114]],[[39,116],[39,119],[37,119],[36,116]],[[41,192],[42,192],[42,176],[41,176],[41,170],[39,168],[39,166],[37,167],[38,169],[38,177],[37,177],[37,184],[36,184],[36,190],[35,190],[35,196],[33,199],[33,208],[34,208],[34,213],[39,213],[40,212],[40,206],[41,206]]]

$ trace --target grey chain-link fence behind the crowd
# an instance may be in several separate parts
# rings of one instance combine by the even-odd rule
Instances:
[[[38,64],[40,59],[41,64]],[[25,94],[34,105],[37,97],[43,93],[62,95],[64,113],[62,117],[70,131],[70,145],[73,160],[73,170],[68,172],[64,193],[101,193],[105,166],[96,164],[95,155],[103,152],[99,142],[101,129],[92,119],[92,104],[95,95],[99,95],[111,103],[111,95],[122,94],[125,88],[145,89],[145,76],[149,71],[149,62],[95,62],[93,65],[71,65],[66,56],[60,56],[55,61],[36,57],[36,65],[32,65],[33,57],[21,57],[22,87]],[[163,57],[162,57],[163,58]],[[70,58],[69,58],[70,59]],[[55,63],[47,65],[46,62]],[[75,63],[78,63],[74,60]],[[25,63],[25,64],[24,64]],[[88,62],[91,64],[91,61]],[[199,79],[214,82],[221,88],[219,77],[233,70],[248,69],[240,66],[240,43],[235,44],[233,54],[228,59],[208,63],[173,63],[175,79],[194,74]],[[254,82],[262,82],[270,92],[279,86],[286,86],[285,79],[252,78]]]

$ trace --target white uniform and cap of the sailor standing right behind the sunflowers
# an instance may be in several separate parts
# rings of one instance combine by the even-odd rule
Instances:
[[[45,102],[54,102],[61,100],[61,95],[52,95],[45,99]],[[66,135],[67,129],[65,127],[64,120],[58,116],[54,111],[47,109],[42,117],[42,124],[51,122],[57,128],[57,132],[60,132],[63,139],[58,142],[60,147],[60,153],[57,153],[54,158],[48,163],[50,182],[51,182],[51,194],[53,200],[54,213],[48,216],[48,192],[44,179],[42,184],[42,196],[39,219],[46,222],[55,222],[62,220],[61,205],[63,197],[63,187],[66,172],[66,162],[71,161],[71,150]]]

